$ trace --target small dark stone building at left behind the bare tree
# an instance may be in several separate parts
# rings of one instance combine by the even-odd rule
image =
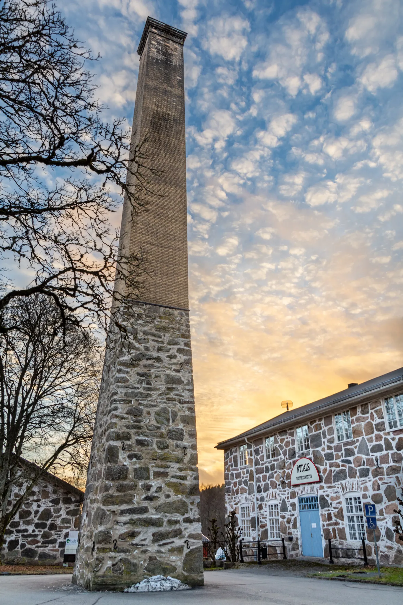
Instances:
[[[24,460],[11,500],[36,474],[37,466]],[[61,564],[71,529],[79,529],[84,492],[50,473],[43,473],[27,501],[5,531],[3,557],[8,563]],[[11,502],[10,502],[11,504]]]

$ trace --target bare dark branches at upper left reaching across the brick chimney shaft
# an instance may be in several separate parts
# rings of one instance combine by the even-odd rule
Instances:
[[[14,287],[3,272],[0,330],[1,310],[33,293],[53,298],[63,320],[106,327],[118,253],[110,213],[124,195],[135,218],[153,169],[146,142],[129,157],[123,119],[102,121],[86,68],[97,59],[49,0],[0,0],[0,257],[34,275]],[[136,293],[141,250],[120,265]]]

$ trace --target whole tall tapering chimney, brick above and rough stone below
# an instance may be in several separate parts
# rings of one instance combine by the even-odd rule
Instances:
[[[109,328],[73,575],[90,590],[122,590],[156,574],[204,582],[187,282],[185,38],[147,18],[138,47],[132,157],[146,140],[154,171],[145,212],[132,220],[124,200],[120,253],[143,250],[146,273],[141,300],[123,280],[115,284],[121,304]]]

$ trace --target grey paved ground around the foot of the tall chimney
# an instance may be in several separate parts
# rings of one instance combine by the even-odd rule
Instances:
[[[140,595],[85,592],[71,585],[69,575],[0,577],[1,605],[401,605],[402,601],[402,588],[289,577],[267,569],[207,572],[204,588]]]

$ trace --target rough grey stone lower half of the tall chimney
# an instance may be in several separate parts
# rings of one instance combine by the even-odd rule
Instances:
[[[189,312],[127,301],[106,352],[73,581],[202,584]]]

